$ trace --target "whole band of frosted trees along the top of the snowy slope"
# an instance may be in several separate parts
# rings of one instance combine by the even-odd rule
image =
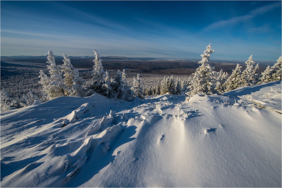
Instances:
[[[251,55],[245,62],[246,69],[242,70],[242,66],[237,64],[232,74],[228,76],[222,70],[214,71],[214,67],[208,64],[212,52],[214,50],[211,49],[211,45],[207,46],[201,55],[202,60],[198,62],[201,66],[187,79],[175,78],[173,75],[164,76],[162,80],[157,80],[153,85],[144,87],[139,74],[133,78],[132,84],[129,84],[125,69],[122,72],[118,70],[113,78],[109,77],[109,73],[103,70],[101,58],[96,50],[94,50],[92,78],[87,82],[80,77],[78,70],[72,66],[67,55],[63,54],[64,64],[56,65],[54,54],[49,50],[47,56],[49,74],[47,75],[43,70],[40,70],[38,76],[40,78],[38,83],[42,87],[41,92],[29,91],[15,100],[4,88],[1,91],[1,112],[29,106],[36,99],[36,102],[46,102],[60,96],[87,97],[95,92],[108,98],[127,101],[132,101],[134,97],[144,99],[145,96],[179,95],[183,92],[189,100],[195,94],[222,94],[242,86],[281,80],[281,57],[273,66],[268,66],[265,71],[259,72],[259,64],[257,63],[254,67],[255,62]]]

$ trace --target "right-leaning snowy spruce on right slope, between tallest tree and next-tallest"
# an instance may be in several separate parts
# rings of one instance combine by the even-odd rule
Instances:
[[[223,84],[223,87],[226,88],[224,91],[230,91],[230,90],[233,90],[233,89],[240,87],[239,79],[240,79],[240,75],[241,75],[241,68],[242,68],[242,66],[237,64],[236,68],[234,70],[232,70],[232,74],[226,80],[226,82]]]

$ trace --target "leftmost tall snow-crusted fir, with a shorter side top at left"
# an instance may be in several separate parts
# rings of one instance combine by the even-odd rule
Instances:
[[[56,65],[54,54],[51,50],[48,52],[47,56],[47,68],[49,69],[50,77],[47,77],[43,71],[40,71],[38,83],[42,84],[42,91],[47,94],[47,99],[55,99],[57,97],[65,96],[64,89],[66,88],[61,77],[60,67]],[[45,76],[46,75],[46,76]],[[47,78],[46,78],[47,77]]]

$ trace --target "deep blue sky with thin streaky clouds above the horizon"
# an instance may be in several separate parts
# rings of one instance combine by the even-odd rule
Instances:
[[[275,61],[282,1],[1,1],[1,55]]]

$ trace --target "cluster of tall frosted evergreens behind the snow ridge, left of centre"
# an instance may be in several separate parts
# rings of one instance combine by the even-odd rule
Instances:
[[[42,84],[45,100],[61,96],[90,96],[97,92],[109,98],[131,101],[135,94],[126,80],[125,69],[123,72],[118,70],[115,77],[110,78],[109,73],[103,70],[101,58],[97,50],[94,50],[94,53],[92,84],[88,88],[83,89],[83,80],[79,76],[78,70],[74,69],[70,63],[69,57],[64,54],[64,64],[58,66],[56,65],[54,54],[49,50],[47,63],[50,65],[47,65],[47,68],[49,69],[50,77],[42,70],[39,72],[39,83]],[[141,95],[138,95],[138,97],[142,98]]]

